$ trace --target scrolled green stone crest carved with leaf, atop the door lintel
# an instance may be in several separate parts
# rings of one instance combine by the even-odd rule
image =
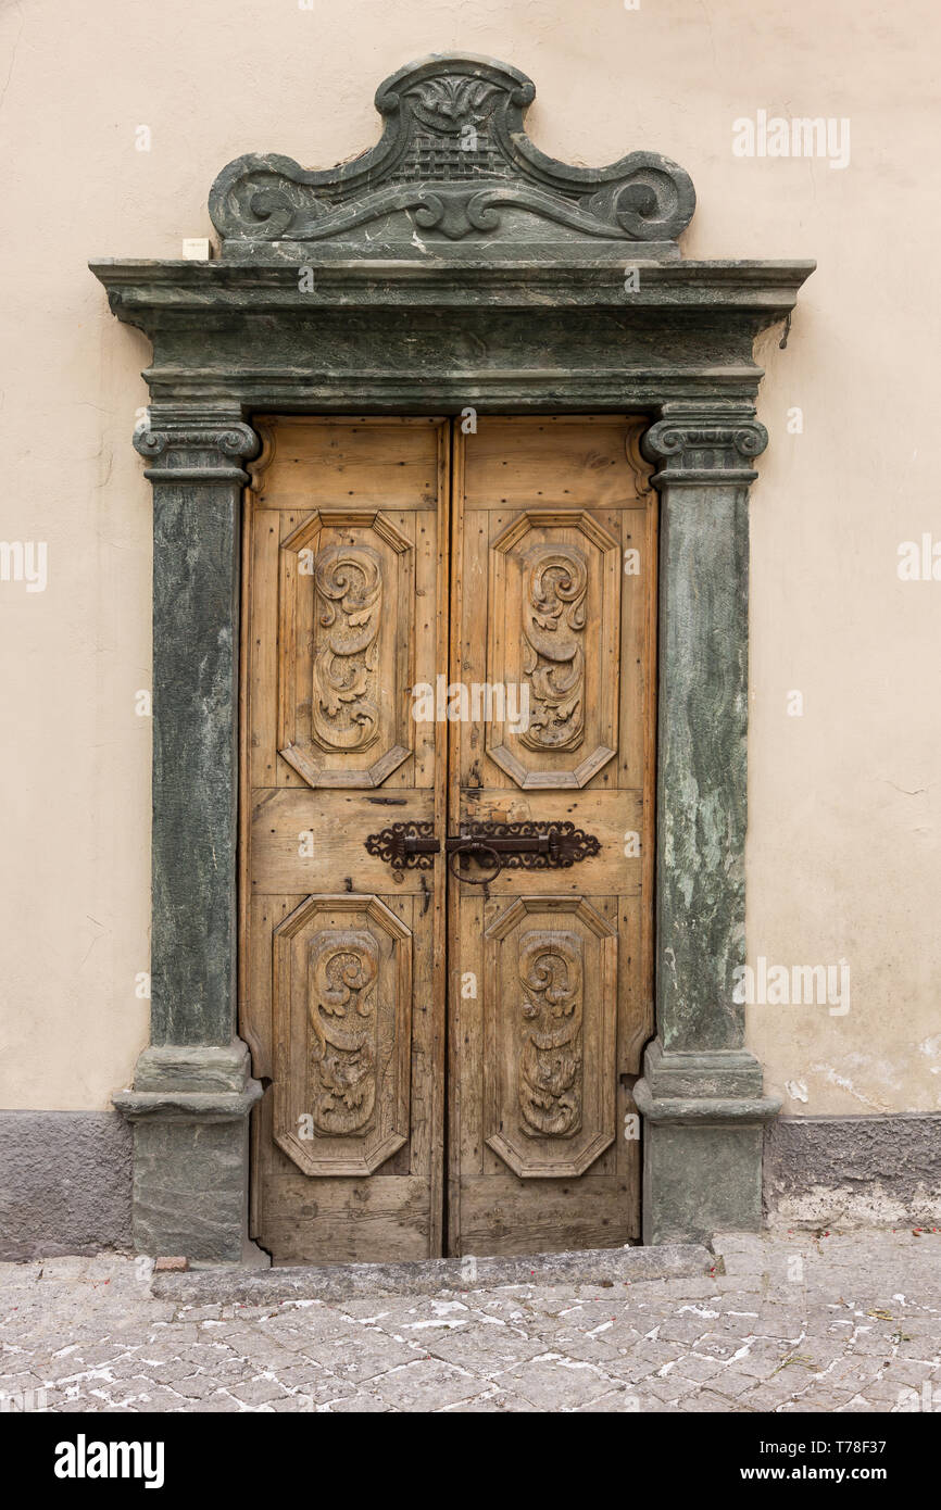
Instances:
[[[227,258],[411,257],[461,243],[461,255],[542,246],[591,255],[612,243],[677,257],[695,193],[657,153],[609,168],[572,168],[523,130],[535,86],[486,57],[443,54],[400,68],[376,91],[385,130],[349,163],[308,171],[290,157],[249,154],[222,169],[210,214]]]

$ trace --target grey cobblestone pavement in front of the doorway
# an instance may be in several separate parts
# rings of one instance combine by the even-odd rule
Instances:
[[[941,1410],[941,1232],[713,1246],[714,1277],[329,1305],[175,1305],[150,1294],[148,1259],[2,1264],[0,1395],[68,1412]]]

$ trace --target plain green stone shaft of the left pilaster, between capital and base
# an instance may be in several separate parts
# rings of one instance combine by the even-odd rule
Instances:
[[[154,486],[151,1036],[236,1030],[239,486]]]

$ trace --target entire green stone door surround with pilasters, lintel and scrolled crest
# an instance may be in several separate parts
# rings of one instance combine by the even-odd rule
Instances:
[[[508,163],[515,154],[514,204],[526,211],[501,237],[498,213],[488,220],[461,181],[432,193],[396,178],[400,153],[387,149],[384,189],[375,165],[356,184],[356,163],[331,178],[287,159],[242,159],[210,201],[222,260],[91,264],[113,313],[154,352],[134,435],[154,495],[151,1045],[133,1089],[115,1098],[134,1125],[140,1252],[261,1258],[246,1231],[248,1119],[261,1087],[236,1018],[240,509],[258,444],[252,415],[282,412],[648,417],[662,539],[657,1037],[634,1090],[643,1235],[695,1240],[761,1220],[763,1126],[778,1102],[763,1095],[733,1003],[745,960],[748,494],[767,442],[752,349],[790,314],[813,263],[684,261],[674,237],[693,198],[681,169],[653,154],[565,169],[532,143],[521,156],[520,131],[504,127],[529,82],[504,65],[450,57],[403,69],[418,103],[405,121],[409,91],[387,80],[376,97],[387,134],[390,122],[396,140],[433,128],[430,116],[421,124],[421,89],[443,72],[489,82],[498,101],[491,139]],[[483,116],[486,104],[474,109]],[[582,180],[572,208],[578,174],[592,178],[594,220]],[[258,175],[261,199],[240,198]],[[642,207],[648,193],[669,201],[646,233],[627,207],[631,175]],[[320,236],[302,208],[310,181],[326,178],[337,199],[359,198],[355,214],[332,210],[337,230]],[[492,199],[512,199],[506,177]],[[246,204],[267,217],[255,239]],[[367,210],[385,217],[379,245],[355,242]],[[388,231],[403,217],[421,226],[418,246]]]

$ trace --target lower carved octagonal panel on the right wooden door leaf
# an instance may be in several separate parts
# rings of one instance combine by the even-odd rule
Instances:
[[[518,897],[485,941],[486,1145],[574,1178],[615,1139],[616,932],[583,897]]]

